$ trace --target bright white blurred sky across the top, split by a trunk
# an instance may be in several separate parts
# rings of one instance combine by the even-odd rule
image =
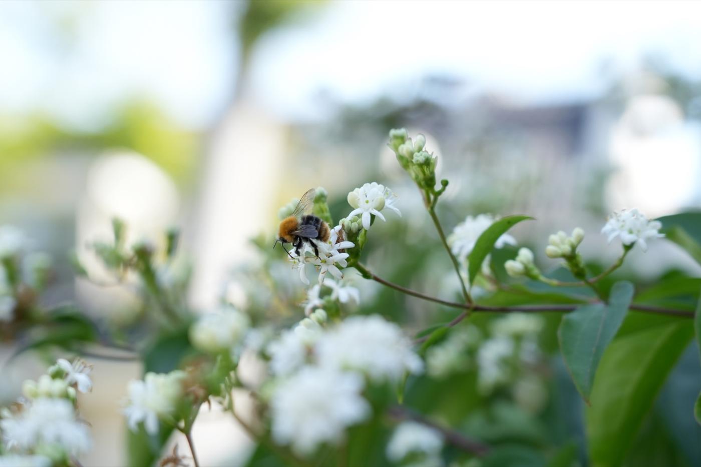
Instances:
[[[147,95],[187,126],[210,125],[235,86],[239,6],[2,2],[0,110],[48,109],[90,128]],[[75,10],[74,39],[57,39],[50,18]],[[268,35],[251,76],[266,107],[306,119],[320,89],[367,102],[438,72],[518,100],[573,100],[606,86],[606,60],[625,72],[653,53],[701,76],[701,4],[347,1]]]

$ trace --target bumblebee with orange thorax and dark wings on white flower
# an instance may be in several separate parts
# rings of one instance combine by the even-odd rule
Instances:
[[[302,245],[308,243],[314,249],[314,255],[319,256],[319,249],[315,241],[329,241],[331,231],[329,224],[315,215],[308,214],[314,204],[315,196],[316,190],[313,188],[302,195],[297,207],[292,211],[292,215],[280,222],[280,231],[278,239],[275,240],[275,245],[278,245],[278,242],[280,242],[285,248],[285,243],[292,243],[294,252],[299,256],[299,250]],[[275,248],[275,245],[273,245],[273,248]],[[290,255],[286,248],[285,252],[287,252],[287,255]]]

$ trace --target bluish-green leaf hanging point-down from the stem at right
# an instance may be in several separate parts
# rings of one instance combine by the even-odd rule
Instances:
[[[608,304],[583,305],[562,318],[557,332],[562,356],[587,404],[601,355],[623,323],[632,299],[633,285],[618,282]]]

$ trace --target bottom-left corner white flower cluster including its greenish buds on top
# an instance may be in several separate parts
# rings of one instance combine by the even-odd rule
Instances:
[[[86,393],[93,387],[90,370],[83,360],[60,359],[38,381],[25,381],[25,399],[13,411],[1,412],[7,455],[0,457],[0,465],[64,463],[68,456],[90,449],[90,431],[76,417],[74,405],[76,388]]]

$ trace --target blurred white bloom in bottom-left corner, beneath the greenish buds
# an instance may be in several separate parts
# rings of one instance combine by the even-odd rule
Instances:
[[[0,420],[0,429],[10,449],[57,444],[72,455],[90,449],[88,426],[76,419],[73,404],[66,399],[36,399],[14,417]]]

